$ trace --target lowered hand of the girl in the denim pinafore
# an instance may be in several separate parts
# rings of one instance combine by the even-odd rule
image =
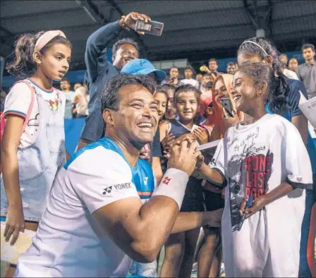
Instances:
[[[16,243],[20,231],[24,232],[25,222],[23,210],[17,207],[8,206],[8,214],[6,214],[6,228],[4,229],[4,237],[8,242],[12,236],[11,246]]]

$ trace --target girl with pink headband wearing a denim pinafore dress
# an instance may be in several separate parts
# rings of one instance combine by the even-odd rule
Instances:
[[[16,59],[7,67],[22,79],[6,98],[1,146],[1,221],[6,222],[1,236],[11,245],[20,231],[37,230],[56,173],[66,161],[65,99],[52,85],[67,73],[70,59],[71,43],[63,32],[42,31],[18,39]]]

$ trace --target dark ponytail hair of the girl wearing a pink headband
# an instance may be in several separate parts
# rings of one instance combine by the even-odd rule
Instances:
[[[26,78],[34,74],[37,69],[37,64],[33,59],[33,52],[38,38],[44,34],[45,31],[37,32],[36,34],[24,34],[16,40],[15,59],[12,63],[6,66],[6,70],[11,75],[18,78]],[[64,37],[54,37],[48,44],[46,44],[40,51],[44,54],[54,44],[66,44],[71,47],[71,42]]]

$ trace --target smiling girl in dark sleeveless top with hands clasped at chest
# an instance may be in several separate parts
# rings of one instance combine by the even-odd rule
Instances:
[[[200,144],[207,143],[207,132],[197,126],[200,91],[191,85],[181,85],[174,93],[174,105],[178,120],[173,119],[160,126],[161,136],[172,133],[175,140],[181,135],[190,135]],[[174,140],[174,141],[175,141]],[[172,145],[172,142],[170,143]],[[186,187],[181,212],[202,212],[203,198],[201,181],[190,177]],[[200,228],[172,234],[165,244],[166,255],[162,265],[162,277],[190,277],[195,246]]]

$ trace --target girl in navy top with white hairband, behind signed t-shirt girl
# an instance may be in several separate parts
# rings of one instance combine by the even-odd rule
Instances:
[[[316,197],[316,149],[308,132],[308,120],[298,107],[300,92],[307,97],[307,92],[303,83],[299,80],[288,79],[282,73],[279,54],[273,42],[265,37],[253,37],[245,40],[238,49],[238,64],[245,61],[262,61],[272,67],[274,71],[275,99],[274,103],[268,102],[266,105],[267,113],[277,113],[291,121],[303,138],[310,162],[312,162],[313,173],[313,192],[307,190],[306,210],[302,225],[302,241],[300,246],[300,277],[311,277],[307,263],[307,243],[308,231],[310,226],[310,212]]]

